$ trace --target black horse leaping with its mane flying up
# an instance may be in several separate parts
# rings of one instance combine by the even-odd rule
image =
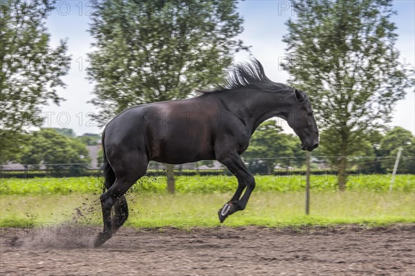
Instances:
[[[234,66],[223,84],[199,97],[143,104],[121,112],[102,132],[107,191],[100,197],[104,232],[96,237],[95,246],[104,244],[127,220],[124,194],[145,175],[150,160],[167,164],[220,161],[237,177],[238,187],[219,210],[219,220],[243,210],[255,179],[240,155],[259,124],[275,116],[288,121],[303,150],[317,148],[319,135],[307,95],[270,81],[257,60]]]

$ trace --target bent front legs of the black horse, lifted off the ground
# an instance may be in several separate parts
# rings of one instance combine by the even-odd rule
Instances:
[[[245,164],[243,164],[241,157],[237,153],[228,155],[219,161],[238,179],[238,188],[234,196],[219,210],[219,221],[223,222],[229,215],[245,209],[249,197],[255,189],[255,178],[246,168]],[[245,193],[239,199],[244,188],[246,188]]]

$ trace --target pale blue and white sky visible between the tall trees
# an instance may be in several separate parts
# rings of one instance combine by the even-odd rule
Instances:
[[[90,23],[91,1],[58,1],[57,9],[46,22],[51,34],[52,46],[59,39],[68,39],[68,54],[72,56],[71,70],[63,79],[66,89],[58,89],[66,101],[60,106],[50,104],[43,108],[46,119],[44,126],[72,128],[77,135],[85,132],[100,133],[102,128],[96,126],[87,116],[97,112],[95,106],[87,103],[93,98],[93,83],[85,79],[86,67],[89,65],[86,53],[91,52],[93,39],[88,32]],[[391,18],[398,29],[396,48],[400,51],[402,61],[415,64],[415,1],[396,0],[394,10],[397,15]],[[287,32],[285,22],[295,16],[290,1],[257,1],[239,3],[239,13],[244,19],[244,31],[240,39],[264,65],[266,74],[277,82],[286,82],[289,75],[279,68],[279,61],[284,58],[286,45],[282,37]],[[248,54],[237,55],[235,61],[246,61]],[[412,90],[407,91],[404,100],[398,101],[390,126],[402,126],[415,133],[415,97]],[[285,130],[288,126],[279,120]]]

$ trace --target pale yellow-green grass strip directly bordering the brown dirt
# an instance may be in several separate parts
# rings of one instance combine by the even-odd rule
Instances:
[[[130,217],[126,225],[218,226],[217,210],[231,196],[231,193],[130,193]],[[414,193],[315,192],[311,193],[311,215],[306,216],[302,192],[255,191],[246,210],[231,215],[223,225],[414,223],[414,207]],[[80,216],[80,213],[84,215]],[[0,195],[0,224],[3,227],[63,221],[101,225],[98,195]]]

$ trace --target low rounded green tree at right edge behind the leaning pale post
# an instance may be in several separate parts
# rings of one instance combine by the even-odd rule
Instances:
[[[379,155],[391,159],[383,161],[380,166],[384,172],[391,172],[394,168],[398,148],[403,148],[399,161],[398,172],[415,173],[415,137],[412,132],[396,126],[385,133],[380,142]]]

